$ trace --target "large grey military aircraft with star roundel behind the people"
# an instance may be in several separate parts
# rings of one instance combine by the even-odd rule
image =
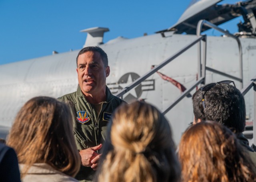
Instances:
[[[256,75],[256,0],[219,4],[222,0],[193,0],[178,22],[153,35],[117,37],[103,43],[104,27],[84,29],[84,44],[106,51],[110,65],[107,85],[127,102],[145,100],[162,111],[172,126],[174,141],[193,121],[191,95],[201,84],[234,80],[244,92],[248,125],[256,121],[253,86]],[[234,34],[218,27],[236,17]],[[206,36],[210,28],[222,36]],[[34,96],[58,98],[76,91],[79,50],[53,53],[0,66],[0,137],[6,137],[18,110]],[[170,63],[171,62],[171,63]],[[12,74],[13,67],[19,72]],[[256,97],[255,97],[256,98]],[[252,127],[251,127],[252,129]],[[252,133],[247,135],[252,139]]]

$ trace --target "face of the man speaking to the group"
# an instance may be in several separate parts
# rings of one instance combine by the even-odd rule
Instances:
[[[104,66],[100,53],[88,51],[79,55],[76,71],[79,86],[85,96],[105,94],[106,77],[110,69]]]

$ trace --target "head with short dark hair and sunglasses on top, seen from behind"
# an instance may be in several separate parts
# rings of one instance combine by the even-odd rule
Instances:
[[[244,97],[232,84],[207,84],[194,93],[192,100],[195,123],[210,120],[221,123],[236,133],[244,131]]]

